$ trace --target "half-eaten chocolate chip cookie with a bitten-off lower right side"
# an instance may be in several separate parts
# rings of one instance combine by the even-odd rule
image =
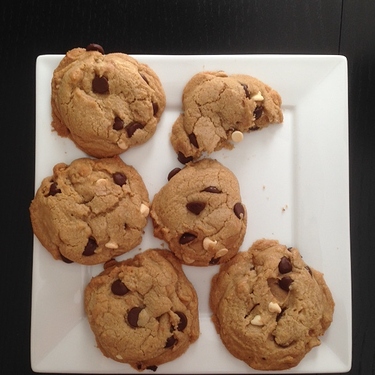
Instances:
[[[186,84],[182,102],[184,112],[173,124],[170,140],[184,164],[231,149],[244,133],[283,121],[280,95],[248,75],[198,73]]]

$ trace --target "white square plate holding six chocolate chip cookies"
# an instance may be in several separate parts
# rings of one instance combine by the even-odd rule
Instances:
[[[35,188],[58,162],[85,154],[51,130],[50,81],[62,55],[39,56],[36,65]],[[296,246],[304,260],[325,275],[336,302],[334,320],[322,343],[295,368],[284,373],[345,372],[351,367],[351,269],[349,244],[347,61],[342,56],[226,55],[135,56],[159,75],[167,107],[156,134],[122,155],[142,175],[150,199],[181,166],[169,143],[170,129],[181,111],[182,90],[203,70],[253,75],[283,99],[284,123],[245,134],[231,151],[211,157],[236,174],[248,209],[242,246],[256,239],[278,239]],[[160,247],[149,220],[140,249]],[[122,259],[121,258],[121,259]],[[95,346],[84,314],[85,285],[101,266],[84,267],[53,260],[34,240],[31,362],[37,372],[138,373],[105,358]],[[218,266],[184,266],[194,284],[201,335],[175,361],[157,373],[259,373],[232,357],[210,320],[208,294]],[[268,374],[270,372],[267,372]]]

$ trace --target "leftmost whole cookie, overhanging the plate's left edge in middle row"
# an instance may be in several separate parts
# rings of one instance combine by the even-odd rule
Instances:
[[[141,176],[116,156],[59,163],[30,205],[35,235],[55,259],[99,264],[140,244],[149,197]]]

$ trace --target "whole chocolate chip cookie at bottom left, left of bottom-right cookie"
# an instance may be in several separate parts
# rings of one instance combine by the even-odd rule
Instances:
[[[137,370],[155,371],[199,337],[197,294],[168,250],[105,269],[87,285],[84,304],[102,353]]]

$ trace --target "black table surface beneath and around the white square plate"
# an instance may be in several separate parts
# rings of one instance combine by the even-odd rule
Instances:
[[[33,234],[28,207],[34,195],[35,60],[41,54],[63,54],[96,42],[106,51],[129,54],[347,57],[353,311],[350,373],[375,374],[374,1],[3,0],[0,17],[0,150],[5,169],[1,188],[5,241],[0,272],[1,373],[33,373]],[[329,103],[316,110],[324,116]]]

